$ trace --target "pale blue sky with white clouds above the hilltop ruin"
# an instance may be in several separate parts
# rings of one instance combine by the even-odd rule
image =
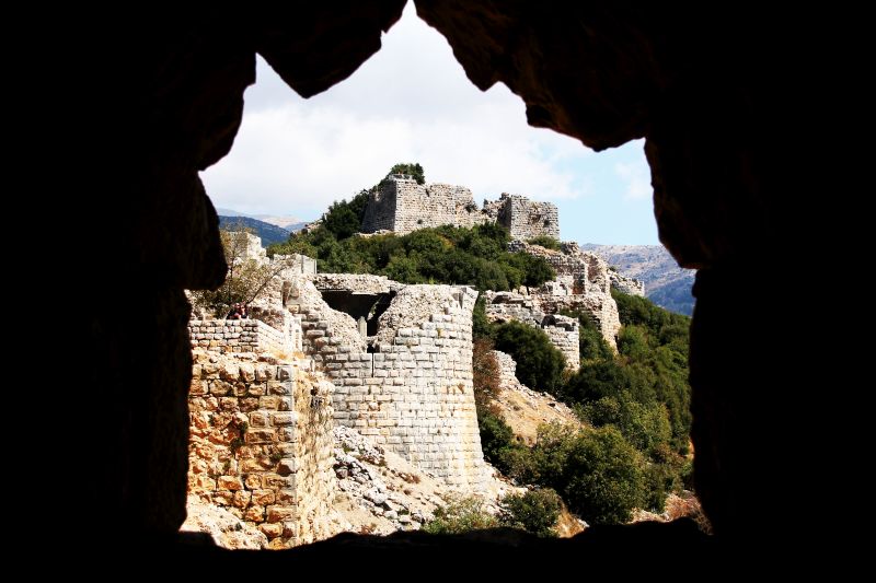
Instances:
[[[658,244],[642,140],[596,153],[528,126],[522,100],[502,83],[475,88],[413,2],[382,43],[310,100],[260,57],[234,147],[201,173],[214,205],[313,220],[395,163],[419,162],[427,183],[465,186],[479,205],[502,193],[556,203],[563,241]]]

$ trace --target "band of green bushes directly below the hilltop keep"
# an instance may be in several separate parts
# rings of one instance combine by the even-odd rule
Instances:
[[[359,200],[335,202],[320,228],[296,233],[268,253],[315,257],[325,273],[377,273],[402,283],[469,284],[481,291],[540,285],[555,277],[543,258],[507,252],[508,231],[497,224],[348,236]]]

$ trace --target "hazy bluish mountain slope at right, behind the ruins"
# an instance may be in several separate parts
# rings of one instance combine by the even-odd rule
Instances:
[[[677,314],[693,313],[693,269],[682,269],[662,245],[580,245],[601,256],[621,275],[645,282],[645,295]]]

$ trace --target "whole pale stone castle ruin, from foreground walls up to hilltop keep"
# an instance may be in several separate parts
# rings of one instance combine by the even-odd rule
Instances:
[[[606,263],[574,244],[556,252],[522,241],[558,234],[555,206],[503,195],[477,210],[468,189],[404,177],[372,197],[365,218],[372,231],[505,224],[511,249],[544,257],[557,277],[538,289],[486,292],[487,317],[544,330],[570,370],[579,366],[579,330],[563,308],[585,310],[614,346],[620,320]],[[481,491],[488,466],[472,385],[477,292],[318,273],[315,260],[268,258],[249,236],[250,259],[283,268],[251,302],[254,319],[189,322],[189,493],[257,528],[266,547],[326,538],[337,529],[337,425],[460,492]]]

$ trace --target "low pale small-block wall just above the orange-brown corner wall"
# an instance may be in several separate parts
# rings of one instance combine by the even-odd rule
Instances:
[[[188,322],[192,348],[218,352],[291,352],[301,349],[301,335],[291,320],[277,330],[258,319],[193,319]]]

